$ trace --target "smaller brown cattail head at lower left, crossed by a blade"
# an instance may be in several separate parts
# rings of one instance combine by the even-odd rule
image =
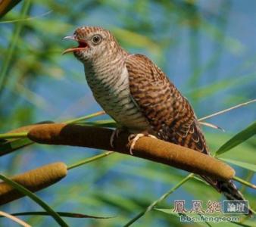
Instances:
[[[64,163],[51,163],[13,176],[11,179],[30,191],[39,191],[42,188],[47,188],[55,184],[66,175],[67,166]],[[17,189],[12,188],[8,183],[0,182],[0,205],[7,204],[23,196],[25,195],[17,191]]]

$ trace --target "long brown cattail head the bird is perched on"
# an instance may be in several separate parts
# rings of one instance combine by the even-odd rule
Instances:
[[[28,138],[41,144],[98,148],[130,154],[127,144],[129,134],[121,133],[115,139],[115,148],[111,148],[112,132],[111,129],[59,123],[35,126],[28,133]],[[133,156],[215,179],[232,179],[235,176],[233,168],[214,157],[155,138],[140,138],[133,149]]]

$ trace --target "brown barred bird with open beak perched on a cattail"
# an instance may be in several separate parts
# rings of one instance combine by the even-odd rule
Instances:
[[[64,39],[78,43],[63,54],[73,52],[82,62],[95,100],[117,122],[111,145],[114,136],[128,130],[133,145],[148,135],[211,155],[191,104],[148,57],[130,54],[100,26],[80,26]],[[201,177],[228,200],[245,200],[232,180]]]

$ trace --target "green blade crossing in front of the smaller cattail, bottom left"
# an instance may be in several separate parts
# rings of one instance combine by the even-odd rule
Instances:
[[[39,204],[39,206],[41,206],[49,215],[51,215],[56,220],[56,222],[58,222],[59,225],[68,226],[67,223],[64,222],[63,219],[61,219],[61,216],[59,216],[58,213],[55,212],[55,210],[52,210],[52,207],[49,207],[48,204],[45,204],[45,202],[37,197],[36,194],[31,192],[30,190],[27,190],[27,188],[24,188],[23,185],[14,182],[13,180],[9,179],[6,176],[3,176],[2,174],[0,174],[0,179],[2,179],[4,182],[7,182],[13,188],[17,189],[17,191],[20,191],[20,193],[30,197],[33,201],[36,202],[36,204]]]

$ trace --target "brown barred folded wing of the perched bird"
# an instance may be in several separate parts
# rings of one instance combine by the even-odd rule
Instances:
[[[129,55],[130,92],[158,138],[208,154],[204,135],[189,101],[142,54]]]

